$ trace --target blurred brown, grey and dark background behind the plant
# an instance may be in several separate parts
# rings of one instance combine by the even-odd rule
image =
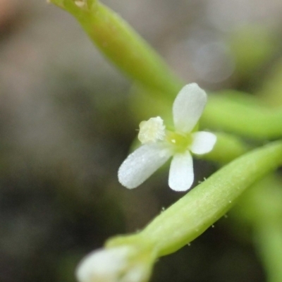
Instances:
[[[282,1],[102,2],[184,81],[278,103]],[[140,123],[130,87],[67,13],[44,0],[0,0],[0,281],[73,282],[87,252],[182,197],[166,170],[136,190],[118,183]],[[195,167],[197,180],[216,168]],[[266,281],[252,232],[236,224],[226,215],[160,259],[152,281]]]

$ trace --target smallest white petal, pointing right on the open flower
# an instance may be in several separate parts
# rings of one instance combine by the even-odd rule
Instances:
[[[205,131],[192,133],[193,142],[190,150],[194,154],[206,154],[211,152],[216,144],[216,135]]]

